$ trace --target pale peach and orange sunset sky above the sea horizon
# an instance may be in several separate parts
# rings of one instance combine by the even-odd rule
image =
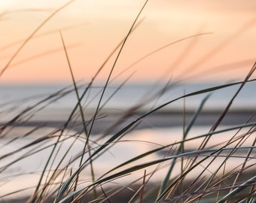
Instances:
[[[145,3],[72,1],[35,32],[66,2],[69,1],[0,2],[0,68],[5,70],[0,83],[72,81],[59,31],[75,80],[89,81],[126,37]],[[241,79],[256,61],[255,11],[254,0],[148,1],[138,20],[141,23],[127,39],[111,79],[118,76],[117,80],[125,80],[130,75],[130,80],[136,82]],[[32,38],[23,44],[30,35]],[[189,38],[193,35],[198,36]],[[167,44],[172,45],[137,62]],[[118,50],[97,80],[106,80]],[[11,60],[15,53],[17,56]],[[133,65],[134,62],[137,63]]]

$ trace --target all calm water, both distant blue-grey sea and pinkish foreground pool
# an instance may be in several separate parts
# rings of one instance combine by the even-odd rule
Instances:
[[[221,83],[220,83],[221,84]],[[164,102],[169,102],[172,99],[178,98],[179,96],[184,95],[184,93],[190,93],[194,91],[198,91],[200,89],[206,89],[212,86],[218,85],[217,83],[193,83],[193,84],[185,84],[181,86],[174,86],[166,91],[163,95],[158,96],[154,94],[155,92],[159,91],[163,86],[152,86],[151,84],[130,84],[126,86],[122,86],[117,93],[111,96],[117,89],[117,85],[111,85],[108,89],[106,89],[105,95],[102,99],[102,104],[106,102],[105,109],[109,111],[117,110],[123,111],[127,108],[132,107],[140,102],[144,104],[143,108],[149,109],[152,107],[157,107],[157,105],[161,105]],[[7,117],[7,114],[11,114],[11,112],[19,112],[23,108],[27,108],[29,106],[35,105],[36,102],[43,101],[39,105],[39,109],[47,105],[47,109],[54,109],[54,113],[73,108],[77,102],[76,94],[72,87],[69,87],[62,93],[59,93],[59,97],[49,97],[49,95],[53,94],[54,92],[59,91],[59,89],[65,88],[65,85],[35,85],[35,86],[0,86],[0,103],[1,103],[1,115],[2,120]],[[81,95],[84,91],[84,86],[81,86],[79,90],[79,95]],[[227,103],[230,101],[230,98],[233,97],[236,90],[239,88],[239,85],[230,86],[225,89],[219,89],[212,92],[209,101],[206,102],[206,109],[209,110],[218,110],[224,108]],[[70,90],[70,91],[69,91]],[[93,86],[90,89],[88,94],[82,100],[82,103],[86,108],[94,109],[99,102],[99,95],[101,93],[102,86]],[[61,96],[60,96],[61,95]],[[200,102],[204,97],[206,97],[208,93],[204,93],[201,95],[191,96],[185,99],[185,105],[187,109],[196,109],[200,105]],[[111,98],[110,98],[111,97]],[[44,101],[44,98],[47,98]],[[109,99],[109,100],[108,100]],[[253,111],[256,110],[256,83],[247,83],[239,95],[236,97],[236,100],[233,102],[233,109],[251,109]],[[179,110],[182,109],[184,105],[184,100],[180,99],[172,104],[166,106],[165,110]],[[49,111],[48,111],[49,112]],[[61,114],[60,114],[61,115]],[[50,117],[49,117],[50,119]],[[203,135],[209,132],[211,126],[195,126],[191,129],[188,137],[194,137],[198,135]],[[227,128],[228,126],[222,126],[223,128]],[[25,146],[32,142],[36,137],[38,138],[38,134],[45,135],[45,133],[50,132],[53,129],[44,128],[41,131],[37,131],[35,138],[30,136],[29,138],[21,138],[12,141],[15,136],[19,136],[20,134],[24,135],[26,132],[29,132],[32,128],[29,127],[18,127],[14,129],[10,138],[5,137],[2,138],[0,144],[0,153],[2,155],[6,153],[10,153],[15,149],[19,149],[20,147]],[[246,129],[245,129],[246,130]],[[75,134],[75,132],[69,132],[70,135]],[[227,141],[230,136],[235,135],[236,132],[233,133],[226,133],[221,135],[214,136],[211,141],[209,142],[210,146],[215,144],[220,144],[221,142]],[[242,132],[241,132],[242,133]],[[93,139],[99,138],[101,135],[94,135]],[[108,135],[105,139],[110,138]],[[169,144],[175,143],[176,141],[180,141],[182,137],[182,128],[181,127],[174,127],[174,128],[165,128],[165,129],[142,129],[139,131],[131,132],[129,135],[123,137],[122,140],[107,153],[104,153],[103,156],[96,159],[94,162],[94,167],[96,168],[96,176],[100,176],[101,174],[105,173],[109,169],[113,168],[115,165],[119,165],[121,162],[125,162],[128,159],[131,159],[139,154],[145,153],[148,150],[152,150],[155,147],[159,147],[162,144]],[[254,137],[251,136],[247,139],[245,146],[250,146],[253,142]],[[59,156],[61,157],[63,153],[66,153],[66,149],[72,145],[72,139],[69,139],[61,146],[59,146]],[[101,142],[103,143],[104,140]],[[186,143],[187,150],[194,150],[197,149],[201,140],[191,141]],[[50,141],[54,142],[54,141]],[[49,145],[49,142],[40,143],[35,145],[35,147],[29,147],[26,150],[22,150],[19,153],[14,154],[13,156],[8,157],[8,159],[3,159],[0,166],[3,167],[8,165],[9,162],[12,160],[20,159],[23,154],[31,153],[38,149],[44,148],[44,146]],[[100,144],[100,143],[97,143]],[[66,156],[66,162],[69,162],[71,157],[74,157],[75,154],[79,153],[80,150],[83,148],[84,142],[77,141],[72,150],[69,153],[69,156]],[[98,146],[98,145],[97,145]],[[33,156],[28,156],[26,159],[21,159],[21,161],[17,162],[14,165],[11,165],[8,170],[5,170],[0,174],[0,197],[2,195],[8,194],[8,192],[14,192],[19,189],[27,188],[22,192],[18,192],[16,195],[30,195],[31,192],[34,190],[34,186],[38,183],[38,178],[40,177],[40,171],[44,168],[44,163],[46,162],[47,157],[50,154],[51,148],[46,148],[45,150],[41,150],[39,153],[36,153]],[[246,152],[245,152],[246,153]],[[145,157],[145,159],[140,160],[139,163],[148,162],[154,159],[160,159],[163,157],[163,154],[153,154],[151,156]],[[235,162],[234,162],[235,160]],[[230,162],[226,165],[226,168],[234,168],[235,166],[242,164],[244,159],[233,158],[230,159]],[[220,165],[223,159],[218,158],[215,161],[215,165],[213,168],[209,168],[209,172],[215,170],[216,165]],[[252,160],[253,161],[253,160]],[[77,163],[72,165],[73,168],[76,167]],[[204,165],[207,165],[208,162],[204,162]],[[200,171],[203,169],[203,164],[200,165],[202,168],[198,168],[196,171]],[[235,164],[235,165],[234,165]],[[54,165],[53,165],[54,167]],[[168,167],[163,168],[163,170],[156,173],[154,176],[154,180],[163,180],[163,174],[166,174],[166,170]],[[154,170],[154,167],[153,169]],[[177,169],[177,174],[179,173]],[[150,171],[147,169],[147,171]],[[90,171],[88,173],[88,180],[90,180]],[[20,175],[21,174],[21,175]],[[133,174],[137,177],[141,177],[141,173]],[[175,174],[174,174],[175,175]],[[195,175],[191,173],[191,175]],[[124,183],[126,180],[131,180],[131,178],[136,177],[124,177],[124,179],[120,179],[121,183]],[[116,180],[118,181],[118,180]],[[25,186],[24,186],[24,183]],[[2,198],[0,198],[1,201]]]

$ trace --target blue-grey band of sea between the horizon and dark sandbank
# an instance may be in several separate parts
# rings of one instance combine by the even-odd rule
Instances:
[[[142,103],[143,108],[157,107],[165,102],[169,102],[172,99],[178,98],[184,94],[190,92],[199,91],[213,86],[218,86],[224,83],[190,83],[178,86],[170,87],[163,95],[156,95],[157,91],[163,89],[163,85],[154,86],[152,84],[128,84],[122,87],[118,85],[110,85],[105,90],[105,95],[102,98],[102,105],[106,102],[104,108],[108,110],[126,110],[138,103]],[[0,104],[1,108],[8,105],[15,105],[17,107],[26,107],[35,104],[35,102],[41,101],[47,98],[50,94],[59,91],[59,89],[65,88],[65,85],[17,85],[17,86],[0,86]],[[79,95],[82,95],[86,86],[79,88]],[[120,88],[120,89],[119,89]],[[222,109],[224,108],[230,99],[235,94],[239,85],[229,86],[224,89],[218,89],[212,91],[212,95],[206,102],[206,109]],[[73,87],[69,87],[67,90],[73,90]],[[102,86],[93,86],[84,96],[82,103],[88,109],[95,109],[99,103],[99,96],[102,92]],[[115,92],[115,93],[114,93]],[[114,94],[114,95],[112,95]],[[203,93],[200,95],[194,95],[185,99],[185,105],[187,109],[198,108],[200,102],[209,93]],[[111,98],[110,98],[111,97]],[[55,97],[57,98],[57,97]],[[53,99],[55,99],[53,98]],[[47,100],[47,102],[53,101]],[[48,108],[72,108],[78,101],[75,91],[63,95],[56,101],[51,102]],[[47,104],[44,102],[44,104]],[[235,109],[256,109],[256,82],[247,83],[239,95],[237,95],[233,102],[232,108]],[[166,106],[165,109],[181,109],[184,105],[184,99],[179,99],[176,102]]]

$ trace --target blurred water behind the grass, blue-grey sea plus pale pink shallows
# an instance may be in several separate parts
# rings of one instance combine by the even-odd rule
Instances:
[[[169,89],[167,89],[163,94],[156,92],[161,92],[164,85],[156,86],[150,83],[141,83],[127,84],[120,87],[117,84],[111,84],[105,90],[105,95],[103,95],[102,111],[104,111],[105,114],[108,112],[122,114],[126,110],[132,108],[134,105],[141,105],[139,110],[145,112],[166,102],[172,101],[175,98],[181,97],[184,94],[189,94],[191,92],[196,92],[201,89],[207,89],[222,84],[223,83],[179,84],[177,86],[170,86]],[[78,95],[82,95],[85,88],[86,85],[82,83],[79,84]],[[211,92],[211,95],[208,101],[206,101],[206,105],[204,106],[203,111],[209,111],[211,114],[215,111],[223,111],[238,88],[239,84]],[[55,92],[58,92],[58,94],[54,94]],[[84,106],[84,111],[95,111],[99,103],[101,92],[102,85],[100,84],[90,88],[90,90],[87,92],[87,95],[85,95],[81,100],[81,104]],[[164,112],[181,113],[184,109],[184,106],[186,111],[197,111],[197,108],[199,108],[203,98],[206,98],[206,95],[209,95],[209,92],[200,95],[189,96],[185,99],[178,99],[177,101],[166,105],[166,107],[160,111],[162,114],[164,114]],[[67,116],[69,116],[72,108],[74,108],[76,105],[78,98],[74,91],[74,87],[64,84],[2,85],[0,86],[0,101],[2,123],[7,122],[10,120],[10,118],[14,118],[17,116],[17,114],[19,114],[19,112],[23,111],[24,109],[29,109],[36,103],[38,103],[38,105],[35,106],[35,111],[33,108],[32,111],[29,111],[29,114],[24,115],[23,119],[28,122],[29,120],[37,120],[47,121],[50,123],[56,120],[67,120]],[[239,112],[246,111],[253,114],[256,110],[255,104],[256,83],[251,82],[245,84],[244,88],[241,90],[241,92],[239,92],[239,95],[237,95],[236,99],[233,101],[230,109]],[[158,118],[160,117],[161,114]],[[20,121],[20,123],[22,122]],[[227,129],[230,127],[232,126],[222,125],[220,126],[220,129]],[[44,168],[44,163],[47,160],[46,157],[49,156],[50,150],[53,147],[53,145],[50,144],[54,144],[56,139],[42,143],[40,142],[39,144],[35,144],[33,147],[18,150],[22,149],[22,147],[26,146],[26,144],[35,141],[36,138],[46,135],[47,132],[52,132],[54,126],[44,126],[29,136],[23,136],[26,135],[26,133],[32,131],[34,128],[35,126],[17,125],[17,127],[11,129],[10,132],[6,134],[6,136],[2,137],[0,154],[5,156],[14,150],[17,150],[17,153],[8,156],[8,159],[2,159],[0,164],[0,168],[2,169],[2,173],[0,174],[0,181],[2,183],[0,185],[0,200],[8,198],[8,193],[24,188],[24,190],[20,190],[20,192],[14,193],[14,196],[30,195],[38,181],[38,178],[40,177],[40,172]],[[190,130],[187,138],[194,138],[195,136],[204,135],[209,132],[210,129],[211,125],[195,125]],[[242,135],[242,133],[244,133],[246,130],[248,130],[248,128],[244,129],[242,132],[239,132],[240,135]],[[56,160],[59,160],[61,156],[66,153],[66,149],[68,149],[70,146],[72,146],[72,150],[70,150],[68,156],[66,156],[65,162],[69,162],[71,157],[74,157],[81,151],[84,146],[84,141],[78,140],[75,142],[75,144],[72,145],[72,142],[75,139],[72,138],[72,135],[76,135],[76,133],[77,132],[75,129],[69,129],[64,133],[65,136],[69,137],[69,135],[71,135],[71,137],[59,145],[59,155],[56,156]],[[104,174],[106,171],[110,170],[116,165],[119,165],[122,162],[125,162],[128,159],[145,153],[148,150],[153,150],[155,147],[181,141],[183,133],[183,128],[181,126],[158,126],[154,128],[154,120],[152,123],[150,123],[150,125],[148,125],[148,128],[145,127],[143,129],[137,129],[135,131],[128,132],[118,141],[117,144],[114,145],[114,147],[108,149],[108,151],[105,152],[103,156],[99,156],[99,158],[95,160],[94,167],[96,168],[96,177]],[[221,133],[220,135],[216,135],[209,142],[209,146],[217,146],[222,142],[228,141],[228,139],[230,139],[236,133],[236,130],[233,130]],[[33,136],[34,134],[35,136]],[[102,134],[95,133],[95,135],[91,137],[91,140],[97,141],[99,138],[102,138]],[[108,138],[111,138],[111,135],[105,135],[105,138],[102,138],[100,141],[98,141],[94,147],[100,146],[100,144],[103,144],[104,141],[106,141]],[[186,143],[186,150],[197,150],[200,141],[202,141],[202,139]],[[244,146],[251,146],[253,141],[254,136],[248,137],[244,143]],[[31,153],[35,154],[28,156]],[[154,159],[160,159],[163,157],[163,153],[164,152],[154,153],[151,156],[147,156],[144,159],[137,161],[135,164],[150,162]],[[244,153],[246,153],[246,151]],[[254,153],[252,154],[253,156]],[[215,165],[221,165],[223,159],[220,157],[215,162]],[[10,165],[13,160],[19,161],[17,161],[14,165]],[[236,161],[234,162],[234,160]],[[226,170],[234,168],[235,165],[241,165],[243,160],[244,159],[239,159],[237,157],[233,158],[226,165]],[[253,162],[253,159],[249,162]],[[209,162],[205,162],[200,165],[201,169],[203,169],[203,165],[207,165],[208,163]],[[70,167],[76,168],[77,164],[78,162],[74,162]],[[53,168],[55,165],[56,162],[53,164]],[[211,174],[211,170],[215,170],[215,165],[209,168],[207,173]],[[6,166],[8,167],[3,169]],[[147,169],[147,171],[154,169],[154,167],[151,167],[150,169]],[[166,173],[167,169],[168,164],[163,167],[163,170],[161,170],[159,173],[156,173],[153,178],[154,181],[163,180],[163,174]],[[176,173],[173,175],[178,174],[180,172],[178,170],[179,169],[177,169]],[[196,172],[198,171],[200,171],[200,169],[198,169]],[[90,171],[87,171],[86,174],[87,177],[85,179],[90,180]],[[195,175],[194,173],[190,174],[193,176]],[[131,177],[137,178],[142,174],[134,175],[135,177],[128,175],[127,177],[120,178],[120,183],[126,183],[126,181],[131,180]],[[118,180],[115,181],[118,182]]]

